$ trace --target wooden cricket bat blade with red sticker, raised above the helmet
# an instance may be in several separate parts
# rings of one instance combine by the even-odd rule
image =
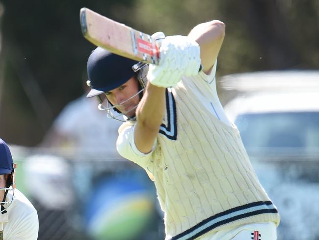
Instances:
[[[83,36],[96,46],[129,59],[154,64],[159,62],[159,49],[149,34],[85,7],[80,9],[80,25]]]

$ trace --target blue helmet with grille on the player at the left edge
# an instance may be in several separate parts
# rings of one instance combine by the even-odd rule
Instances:
[[[0,139],[0,175],[9,174],[6,186],[0,188],[0,191],[4,191],[4,197],[3,199],[0,199],[1,213],[5,213],[6,209],[13,201],[15,189],[14,170],[16,167],[17,165],[12,161],[12,155],[8,145]],[[10,194],[10,197],[7,197],[8,191],[12,191],[12,195]]]

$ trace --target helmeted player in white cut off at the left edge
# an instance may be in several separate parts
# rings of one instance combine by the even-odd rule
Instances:
[[[15,188],[15,168],[8,145],[0,139],[0,240],[37,240],[37,211]]]

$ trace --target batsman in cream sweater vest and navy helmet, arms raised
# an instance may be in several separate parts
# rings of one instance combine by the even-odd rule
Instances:
[[[217,96],[224,36],[217,20],[167,36],[159,41],[159,65],[100,47],[88,58],[87,97],[124,121],[117,150],[154,181],[165,240],[277,239],[278,211]]]

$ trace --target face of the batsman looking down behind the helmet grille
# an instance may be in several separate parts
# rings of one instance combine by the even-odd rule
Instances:
[[[116,106],[124,115],[133,117],[135,115],[136,106],[139,103],[139,95],[136,94],[137,92],[138,82],[135,77],[132,77],[120,87],[106,92],[106,97],[107,100],[113,106]]]

